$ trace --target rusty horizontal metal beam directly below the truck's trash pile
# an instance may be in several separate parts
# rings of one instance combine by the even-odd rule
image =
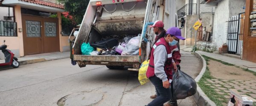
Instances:
[[[139,62],[139,56],[88,56],[74,55],[76,61]]]

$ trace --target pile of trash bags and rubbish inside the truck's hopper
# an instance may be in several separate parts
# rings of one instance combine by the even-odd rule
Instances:
[[[118,38],[104,38],[101,41],[83,43],[81,45],[82,55],[108,55],[108,56],[138,56],[141,34],[138,36],[127,36],[118,41]]]

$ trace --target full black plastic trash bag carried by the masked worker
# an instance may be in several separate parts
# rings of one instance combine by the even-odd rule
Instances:
[[[185,99],[196,93],[196,82],[195,80],[178,70],[173,75],[173,98],[174,100]]]

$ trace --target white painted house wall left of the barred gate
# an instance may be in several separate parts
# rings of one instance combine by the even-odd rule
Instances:
[[[221,0],[215,8],[212,42],[218,47],[227,43],[227,29],[229,17],[244,12],[245,0]]]

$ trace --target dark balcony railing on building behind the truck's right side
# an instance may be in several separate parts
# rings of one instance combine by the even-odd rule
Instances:
[[[195,15],[197,14],[197,4],[193,3],[193,4],[186,4],[185,6],[183,6],[182,8],[180,8],[177,11],[178,14],[178,18],[184,17],[186,15]]]

